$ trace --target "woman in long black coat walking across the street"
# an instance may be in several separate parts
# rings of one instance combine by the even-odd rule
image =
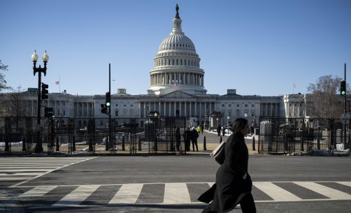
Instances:
[[[225,159],[217,170],[216,183],[199,197],[199,201],[204,203],[213,200],[203,212],[230,212],[239,203],[242,212],[256,212],[248,174],[248,148],[244,139],[249,131],[248,120],[240,118],[234,121],[233,133],[225,141]]]

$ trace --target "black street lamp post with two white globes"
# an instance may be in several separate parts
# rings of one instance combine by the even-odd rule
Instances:
[[[49,56],[48,54],[45,53],[43,54],[43,62],[44,62],[44,67],[41,68],[41,65],[39,65],[39,68],[37,68],[37,61],[38,61],[38,55],[37,52],[34,50],[34,53],[32,54],[32,61],[33,61],[33,74],[35,76],[35,73],[38,72],[38,109],[37,109],[37,143],[34,148],[34,152],[43,152],[43,144],[41,143],[41,137],[40,137],[40,108],[41,108],[41,72],[43,72],[44,76],[46,76],[46,63],[49,61]]]

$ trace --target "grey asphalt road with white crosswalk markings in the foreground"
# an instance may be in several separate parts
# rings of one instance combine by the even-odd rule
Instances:
[[[3,212],[201,212],[205,204],[197,197],[215,181],[219,167],[201,154],[0,160],[19,162],[13,168],[13,163],[0,166],[1,171],[12,168],[1,172]],[[250,155],[257,212],[348,212],[350,160]],[[30,177],[29,171],[28,176],[15,172],[21,170],[20,162],[26,162],[23,168],[56,167]],[[5,174],[18,175],[9,181]],[[232,212],[241,212],[240,207]]]

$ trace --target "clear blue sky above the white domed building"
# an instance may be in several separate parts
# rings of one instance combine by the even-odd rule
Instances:
[[[201,58],[208,94],[277,96],[307,92],[332,74],[351,81],[350,0],[0,1],[0,59],[8,85],[37,88],[31,55],[47,50],[50,92],[147,94],[159,44],[183,32]],[[293,84],[296,88],[293,88]]]

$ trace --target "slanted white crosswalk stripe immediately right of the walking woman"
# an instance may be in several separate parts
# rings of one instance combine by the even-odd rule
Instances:
[[[301,198],[271,182],[254,182],[253,185],[268,194],[274,201],[301,201]]]

